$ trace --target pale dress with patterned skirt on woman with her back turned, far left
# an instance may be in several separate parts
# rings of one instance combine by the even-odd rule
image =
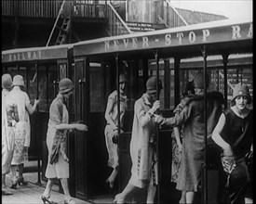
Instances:
[[[15,97],[18,105],[20,121],[15,125],[15,142],[14,152],[11,165],[19,165],[28,160],[28,147],[30,147],[30,119],[26,106],[30,104],[27,93],[20,90],[19,86],[15,86],[10,92]]]

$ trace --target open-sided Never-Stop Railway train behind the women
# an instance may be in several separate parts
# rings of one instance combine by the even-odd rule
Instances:
[[[31,48],[30,54],[25,54],[28,50],[10,50],[2,52],[2,66],[4,71],[12,75],[19,72],[25,76],[28,93],[32,98],[41,97],[46,100],[33,116],[37,117],[34,120],[36,130],[41,127],[40,120],[47,120],[47,114],[45,117],[41,117],[41,114],[47,112],[50,101],[56,95],[58,81],[62,77],[74,81],[74,96],[69,103],[72,120],[88,124],[88,132],[69,135],[70,189],[74,197],[97,203],[100,198],[112,200],[115,193],[128,183],[133,105],[145,92],[145,83],[150,76],[155,75],[163,82],[164,89],[159,98],[162,105],[160,111],[166,117],[172,116],[172,110],[180,102],[184,85],[193,80],[198,70],[210,73],[209,88],[222,92],[224,108],[229,107],[235,83],[248,83],[252,94],[252,26],[252,21],[220,20],[155,32],[106,37],[74,45]],[[62,49],[65,51],[62,52]],[[41,53],[36,50],[41,50]],[[46,50],[54,55],[45,57]],[[128,74],[128,111],[125,115],[125,134],[120,136],[118,144],[120,173],[114,190],[110,192],[105,184],[111,170],[107,167],[104,111],[108,95],[118,86],[115,82],[118,82],[119,73]],[[178,200],[175,197],[177,192],[170,185],[171,132],[171,129],[160,129],[158,132],[159,185],[155,198],[158,203]],[[36,138],[39,134],[33,132],[32,136]],[[46,137],[45,129],[40,131],[40,137]],[[207,140],[205,145],[209,147]],[[205,163],[208,165],[204,168],[202,202],[212,203],[216,202],[218,176],[217,164],[209,161],[218,156],[214,153],[209,155],[208,148],[205,153]],[[141,202],[144,193],[137,195]]]

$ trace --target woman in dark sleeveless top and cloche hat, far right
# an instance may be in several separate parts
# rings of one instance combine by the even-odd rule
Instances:
[[[252,109],[248,108],[251,96],[247,85],[236,84],[232,102],[235,105],[222,113],[212,139],[222,147],[222,167],[231,203],[245,203],[245,198],[252,198],[247,187],[251,178],[246,160],[252,159],[253,150]]]

